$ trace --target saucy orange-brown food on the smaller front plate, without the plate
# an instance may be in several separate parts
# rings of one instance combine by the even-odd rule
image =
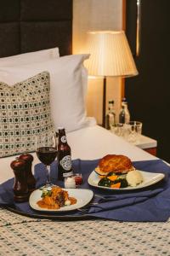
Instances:
[[[70,197],[66,190],[57,186],[42,189],[42,200],[37,201],[38,207],[47,209],[59,209],[76,203],[76,198]]]

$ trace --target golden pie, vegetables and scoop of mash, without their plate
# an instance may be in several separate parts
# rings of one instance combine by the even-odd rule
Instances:
[[[122,189],[128,186],[136,187],[143,182],[139,171],[133,167],[132,161],[122,154],[107,154],[99,160],[95,168],[99,175],[99,186],[112,189]]]

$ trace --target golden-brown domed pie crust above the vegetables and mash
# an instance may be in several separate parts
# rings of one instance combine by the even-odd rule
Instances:
[[[99,160],[98,167],[95,168],[95,172],[104,176],[107,176],[111,172],[123,174],[133,170],[132,161],[122,154],[105,155],[105,157]]]

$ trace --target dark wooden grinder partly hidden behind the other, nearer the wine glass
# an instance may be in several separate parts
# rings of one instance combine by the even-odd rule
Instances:
[[[28,185],[28,190],[31,193],[36,189],[36,179],[31,172],[32,161],[34,160],[31,154],[21,154],[19,157],[20,160],[26,161],[26,181]]]

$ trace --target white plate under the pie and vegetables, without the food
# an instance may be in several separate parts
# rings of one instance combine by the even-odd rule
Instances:
[[[139,170],[138,170],[139,171]],[[142,177],[144,178],[144,181],[137,185],[136,187],[130,187],[127,188],[107,188],[103,186],[99,186],[99,175],[96,172],[91,172],[91,174],[88,177],[88,184],[90,184],[93,187],[102,188],[102,189],[110,189],[110,190],[131,190],[131,189],[143,189],[145,187],[148,187],[152,184],[158,183],[162,178],[165,177],[163,173],[154,173],[154,172],[143,172],[139,171],[142,174]]]

